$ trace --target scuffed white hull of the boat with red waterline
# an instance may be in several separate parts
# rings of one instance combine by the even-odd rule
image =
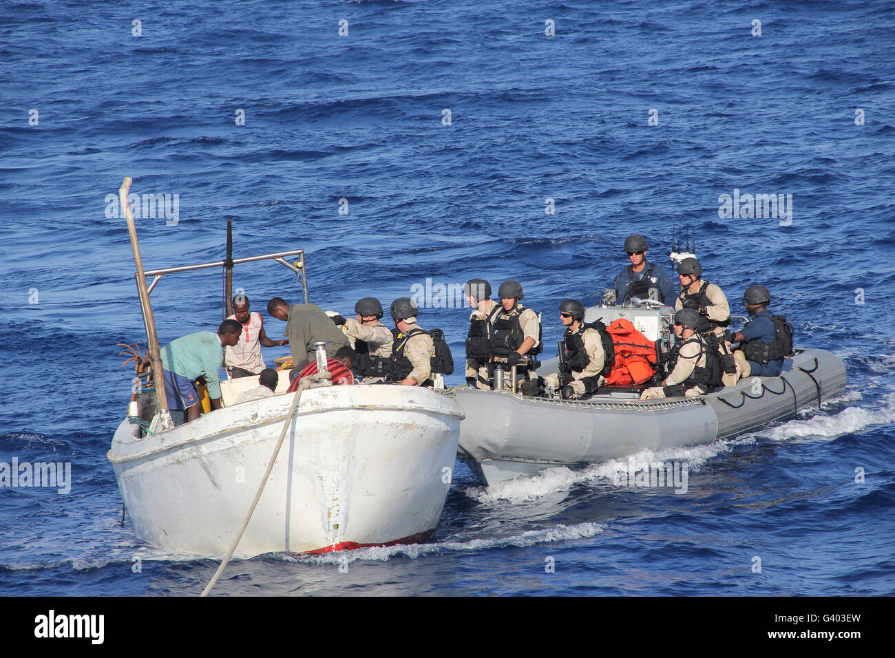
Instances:
[[[108,458],[136,533],[175,551],[226,553],[293,396],[144,438],[125,419]],[[416,387],[305,391],[236,554],[422,540],[438,526],[463,417],[450,397]]]

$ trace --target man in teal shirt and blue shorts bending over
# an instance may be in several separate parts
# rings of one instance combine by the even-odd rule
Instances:
[[[172,340],[162,347],[162,366],[165,369],[165,393],[168,408],[183,410],[187,421],[199,418],[199,394],[193,381],[205,378],[211,408],[221,406],[221,385],[217,371],[223,365],[224,347],[239,342],[243,328],[236,320],[224,320],[211,331],[197,331]]]

